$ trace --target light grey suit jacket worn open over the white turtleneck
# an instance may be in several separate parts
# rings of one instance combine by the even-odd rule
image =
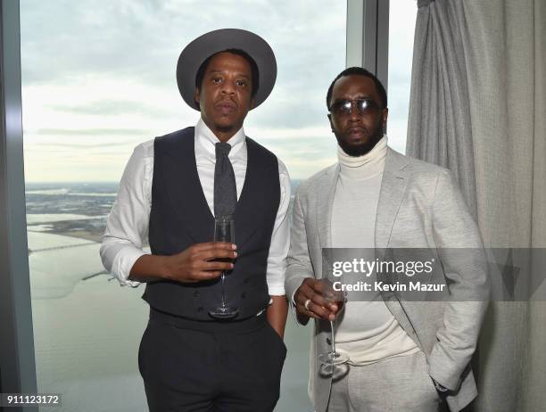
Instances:
[[[330,223],[338,174],[338,164],[323,169],[295,194],[287,296],[294,296],[306,277],[322,276],[322,248],[332,247]],[[386,248],[438,251],[449,300],[404,301],[397,293],[382,296],[404,331],[425,352],[429,375],[452,390],[447,397],[451,411],[459,411],[477,394],[470,359],[487,308],[489,283],[481,237],[449,170],[388,149],[376,212],[376,249]],[[474,256],[461,260],[450,248],[468,248],[465,252]],[[326,410],[330,393],[331,379],[318,374],[317,358],[328,350],[328,335],[327,322],[314,322],[309,393],[317,412]]]

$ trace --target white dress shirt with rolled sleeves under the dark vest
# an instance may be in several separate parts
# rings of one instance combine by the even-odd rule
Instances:
[[[214,216],[214,166],[215,144],[219,142],[203,119],[195,126],[195,162],[203,194]],[[231,151],[229,161],[236,177],[237,199],[241,195],[246,174],[247,148],[244,129],[241,128],[228,141]],[[284,163],[278,160],[280,204],[275,218],[269,247],[267,282],[269,294],[285,294],[285,264],[290,243],[289,220],[286,216],[290,203],[290,177]],[[118,197],[112,207],[101,245],[104,268],[118,278],[120,284],[138,286],[128,280],[136,260],[145,254],[143,244],[148,237],[148,224],[152,206],[153,140],[136,146],[120,181]]]

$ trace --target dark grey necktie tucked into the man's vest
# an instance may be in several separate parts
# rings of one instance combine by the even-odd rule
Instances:
[[[214,216],[233,218],[237,205],[235,173],[227,153],[231,145],[216,144],[216,165],[214,166]]]

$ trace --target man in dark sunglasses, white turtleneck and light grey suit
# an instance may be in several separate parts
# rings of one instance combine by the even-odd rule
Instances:
[[[315,319],[310,398],[317,412],[432,412],[446,401],[459,411],[476,397],[470,360],[488,296],[476,224],[448,170],[388,147],[387,96],[376,76],[343,70],[327,109],[338,162],[298,188],[285,281],[298,322]],[[463,247],[467,259],[456,259]],[[327,321],[341,306],[318,281],[330,269],[324,248],[359,248],[368,261],[378,251],[428,248],[449,297],[411,301],[381,290],[349,299],[334,337],[348,360],[331,367],[319,355],[330,351]]]

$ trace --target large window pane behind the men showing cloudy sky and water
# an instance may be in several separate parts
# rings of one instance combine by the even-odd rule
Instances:
[[[178,54],[211,29],[249,29],[277,54],[277,85],[245,131],[294,186],[335,161],[325,95],[344,68],[343,1],[21,0],[29,266],[38,391],[63,411],[143,410],[136,353],[143,286],[120,287],[98,249],[136,144],[194,125]],[[289,318],[277,410],[310,410],[310,328]],[[46,410],[54,410],[47,408]]]

